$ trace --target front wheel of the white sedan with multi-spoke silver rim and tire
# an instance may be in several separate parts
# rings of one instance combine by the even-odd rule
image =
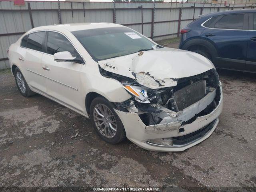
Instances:
[[[90,106],[90,119],[102,140],[118,144],[126,139],[126,134],[122,121],[113,108],[114,105],[105,98],[96,97]]]

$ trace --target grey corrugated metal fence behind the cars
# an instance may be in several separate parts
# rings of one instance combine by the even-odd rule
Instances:
[[[42,2],[14,6],[0,2],[0,69],[9,67],[7,49],[31,28],[75,22],[110,22],[128,26],[154,40],[180,35],[200,14],[255,8],[255,4]]]

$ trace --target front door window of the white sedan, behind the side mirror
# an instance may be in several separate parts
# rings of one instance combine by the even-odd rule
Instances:
[[[74,46],[66,37],[64,37],[62,34],[49,31],[47,38],[47,53],[53,55],[62,51],[68,51],[74,57],[79,56]]]

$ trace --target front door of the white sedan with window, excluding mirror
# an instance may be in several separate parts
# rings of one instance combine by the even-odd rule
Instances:
[[[80,95],[80,72],[84,65],[75,62],[57,62],[53,57],[55,53],[62,51],[69,51],[72,56],[80,57],[80,55],[70,41],[58,32],[47,32],[46,42],[46,54],[42,56],[42,65],[47,94],[62,104],[83,112],[84,100],[81,100]]]

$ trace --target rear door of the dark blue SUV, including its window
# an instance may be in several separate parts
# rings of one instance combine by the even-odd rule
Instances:
[[[245,70],[248,14],[227,14],[219,16],[201,36],[213,42],[218,57],[214,65],[218,68]]]

